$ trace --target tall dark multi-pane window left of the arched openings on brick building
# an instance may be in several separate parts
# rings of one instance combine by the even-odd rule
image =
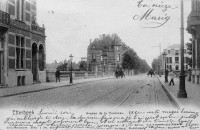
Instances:
[[[25,69],[25,40],[16,36],[16,69]]]

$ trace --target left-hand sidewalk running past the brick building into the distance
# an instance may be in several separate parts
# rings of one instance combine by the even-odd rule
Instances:
[[[46,82],[46,83],[33,84],[33,85],[27,85],[27,86],[17,86],[17,87],[7,87],[7,88],[4,87],[4,88],[0,88],[0,98],[20,95],[20,94],[25,94],[25,93],[50,90],[50,89],[55,89],[59,87],[72,86],[72,85],[88,83],[92,81],[112,79],[112,78],[114,78],[114,76],[94,77],[94,78],[88,78],[88,79],[74,79],[72,84],[69,83],[69,80],[66,80],[66,81],[61,81],[58,83]]]

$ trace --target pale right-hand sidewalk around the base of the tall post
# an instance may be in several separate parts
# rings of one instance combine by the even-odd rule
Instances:
[[[187,92],[187,98],[177,98],[177,94],[179,91],[179,78],[174,79],[175,85],[169,86],[169,82],[165,83],[164,75],[162,77],[159,77],[162,84],[170,91],[170,94],[172,94],[172,97],[175,98],[175,101],[177,101],[178,105],[180,107],[193,107],[200,109],[200,85],[194,84],[187,79],[185,80],[185,89]],[[168,77],[168,80],[170,81],[170,78]]]

